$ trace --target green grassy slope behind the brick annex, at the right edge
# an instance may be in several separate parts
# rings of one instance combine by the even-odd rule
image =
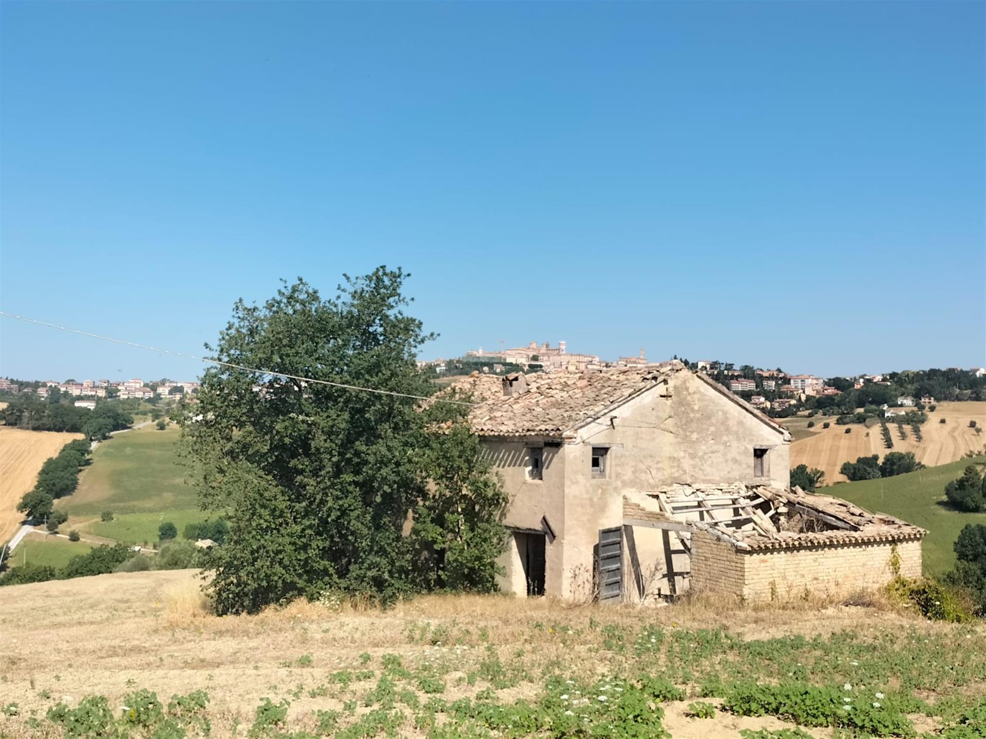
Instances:
[[[961,476],[962,470],[976,463],[982,467],[986,458],[960,459],[940,467],[910,472],[881,480],[844,483],[819,490],[867,510],[880,511],[903,518],[928,530],[924,539],[925,574],[938,576],[951,570],[955,554],[951,545],[966,523],[986,524],[986,513],[963,513],[942,503],[945,486]]]

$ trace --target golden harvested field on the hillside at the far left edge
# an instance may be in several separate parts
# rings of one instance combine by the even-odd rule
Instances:
[[[35,487],[44,460],[81,434],[33,432],[0,426],[0,542],[17,531],[23,516],[17,504]]]

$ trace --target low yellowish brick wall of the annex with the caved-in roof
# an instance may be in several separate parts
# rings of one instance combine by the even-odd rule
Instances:
[[[844,595],[873,589],[893,578],[890,543],[741,552],[705,532],[692,537],[691,586],[725,592],[750,602],[788,600],[805,593]],[[921,574],[921,542],[897,544],[900,574]]]

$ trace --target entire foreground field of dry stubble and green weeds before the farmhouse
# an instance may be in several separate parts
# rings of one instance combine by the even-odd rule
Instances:
[[[165,719],[135,695],[144,690],[188,736],[208,719],[213,737],[340,739],[484,737],[489,727],[739,739],[740,729],[793,726],[776,708],[748,714],[750,681],[820,700],[828,707],[812,704],[814,714],[829,710],[835,723],[858,728],[850,705],[906,733],[960,721],[986,693],[986,628],[930,624],[863,596],[854,602],[871,605],[634,609],[443,595],[385,611],[329,599],[218,618],[200,582],[153,571],[2,588],[3,703],[17,707],[0,713],[0,736],[61,736],[69,717],[98,712],[102,699],[90,696],[106,699],[100,736],[134,721],[150,723],[133,736],[151,736]],[[168,708],[175,695],[184,708]],[[636,733],[607,733],[628,715]]]

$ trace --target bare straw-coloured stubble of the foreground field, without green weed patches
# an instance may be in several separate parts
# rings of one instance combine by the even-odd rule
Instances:
[[[253,709],[264,697],[275,703],[289,699],[292,728],[303,728],[312,725],[317,709],[339,709],[346,698],[360,701],[376,684],[376,677],[368,679],[339,695],[333,672],[379,670],[385,654],[400,655],[409,667],[422,660],[454,664],[445,676],[448,690],[441,696],[451,702],[474,696],[488,685],[480,679],[469,687],[461,678],[495,652],[507,670],[523,668],[531,676],[529,682],[499,691],[498,698],[508,702],[536,696],[546,670],[593,680],[615,674],[611,670],[632,668],[633,650],[622,656],[607,651],[606,635],[632,639],[645,627],[671,633],[722,627],[744,639],[828,638],[849,630],[879,641],[910,632],[917,642],[941,637],[951,649],[966,651],[967,645],[982,643],[986,636],[982,627],[932,625],[869,607],[818,603],[741,610],[697,602],[653,609],[573,608],[544,598],[426,596],[387,611],[299,602],[257,616],[219,618],[207,613],[200,583],[193,571],[155,571],[3,588],[0,694],[5,704],[19,705],[20,715],[0,715],[0,736],[60,735],[50,724],[31,729],[26,721],[31,715],[43,719],[57,702],[76,705],[89,695],[106,696],[115,710],[123,705],[124,695],[140,688],[156,691],[165,703],[176,693],[208,692],[214,737],[235,732],[245,736]],[[424,633],[428,638],[421,638]],[[870,647],[859,643],[856,648],[853,656],[865,659]],[[841,654],[843,664],[846,653]],[[947,663],[947,672],[952,669],[952,652],[936,659]],[[975,674],[982,673],[978,679],[986,680],[986,659],[974,659]],[[749,676],[770,679],[755,672]],[[317,686],[325,684],[329,693],[318,694]],[[960,690],[970,689],[977,687]],[[984,683],[978,683],[978,689],[984,689]],[[688,703],[664,705],[665,725],[675,739],[739,738],[740,729],[791,725],[772,716],[740,717],[722,711],[714,719],[690,718],[685,715]],[[366,710],[362,706],[358,714]],[[916,718],[919,730],[934,728],[921,720]],[[425,736],[410,724],[400,731],[401,736]],[[821,739],[831,730],[810,733]]]

